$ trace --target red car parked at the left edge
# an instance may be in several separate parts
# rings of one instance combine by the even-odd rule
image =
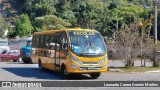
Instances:
[[[0,53],[0,61],[13,60],[14,62],[19,60],[20,51],[18,50],[4,50]]]

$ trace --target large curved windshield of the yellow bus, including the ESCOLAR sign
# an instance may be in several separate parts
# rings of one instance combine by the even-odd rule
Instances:
[[[106,47],[98,32],[69,31],[70,49],[77,55],[104,55]]]

